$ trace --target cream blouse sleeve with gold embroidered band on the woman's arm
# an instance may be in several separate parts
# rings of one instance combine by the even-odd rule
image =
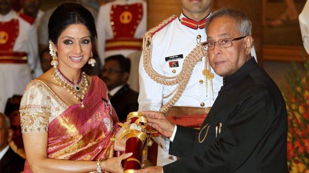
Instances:
[[[66,108],[42,81],[31,81],[21,101],[22,132],[47,132],[49,123]]]

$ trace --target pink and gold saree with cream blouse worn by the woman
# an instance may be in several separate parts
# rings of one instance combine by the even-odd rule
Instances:
[[[47,132],[48,158],[98,160],[113,156],[110,138],[118,118],[107,98],[101,79],[92,77],[85,95],[85,108],[67,106],[42,81],[31,81],[21,102],[22,132]],[[30,173],[25,164],[25,173]]]

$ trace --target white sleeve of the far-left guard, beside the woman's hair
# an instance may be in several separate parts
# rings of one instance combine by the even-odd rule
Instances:
[[[34,25],[31,25],[27,35],[27,48],[28,48],[28,64],[31,70],[34,70],[39,62],[38,50],[38,37],[37,30]]]

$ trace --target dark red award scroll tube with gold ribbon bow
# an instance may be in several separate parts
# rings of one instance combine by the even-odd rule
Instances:
[[[146,130],[147,119],[140,112],[130,112],[127,121],[131,124],[119,123],[120,126],[126,127],[126,130],[119,136],[122,139],[126,136],[126,153],[133,154],[124,160],[124,173],[134,173],[134,170],[142,168],[143,153],[147,153],[147,146],[152,145],[150,139],[151,131]],[[147,146],[145,145],[147,143]]]

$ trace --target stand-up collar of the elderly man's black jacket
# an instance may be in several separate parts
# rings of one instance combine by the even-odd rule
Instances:
[[[234,83],[241,80],[246,74],[251,72],[253,69],[258,67],[258,64],[254,57],[252,57],[249,61],[247,61],[244,65],[242,65],[236,72],[223,78],[223,86],[229,88]]]

